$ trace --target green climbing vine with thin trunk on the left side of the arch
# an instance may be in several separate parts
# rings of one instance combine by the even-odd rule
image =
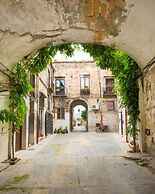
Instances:
[[[59,51],[72,56],[76,45],[57,45],[42,48],[24,57],[12,70],[9,78],[9,108],[0,111],[0,121],[9,123],[12,136],[11,159],[14,160],[14,132],[20,131],[27,111],[25,98],[33,88],[29,81],[29,74],[37,74],[44,70]]]

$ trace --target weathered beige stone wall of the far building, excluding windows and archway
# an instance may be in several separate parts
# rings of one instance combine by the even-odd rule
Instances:
[[[110,131],[118,131],[118,114],[117,111],[108,111],[107,102],[115,101],[116,98],[103,98],[103,89],[105,88],[105,77],[112,76],[109,70],[101,70],[93,61],[81,62],[54,62],[55,78],[64,77],[66,96],[55,97],[55,111],[57,107],[65,107],[65,120],[57,120],[56,112],[54,119],[54,128],[70,128],[70,105],[74,100],[84,100],[88,106],[88,129],[96,129],[96,123],[101,121],[101,113],[104,125],[108,125]],[[90,77],[90,95],[80,94],[80,77]],[[100,85],[101,84],[101,85]],[[101,92],[101,94],[100,94]],[[101,96],[100,96],[101,95]],[[93,105],[99,102],[100,110],[93,110]],[[117,110],[117,103],[115,105]]]

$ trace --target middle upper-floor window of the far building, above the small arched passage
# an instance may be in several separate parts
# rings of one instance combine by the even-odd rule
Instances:
[[[90,94],[90,77],[89,76],[80,77],[80,93],[81,95]]]

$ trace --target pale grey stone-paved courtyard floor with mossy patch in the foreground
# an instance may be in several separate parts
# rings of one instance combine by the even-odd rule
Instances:
[[[51,135],[0,173],[0,193],[154,194],[155,174],[124,159],[118,134]]]

